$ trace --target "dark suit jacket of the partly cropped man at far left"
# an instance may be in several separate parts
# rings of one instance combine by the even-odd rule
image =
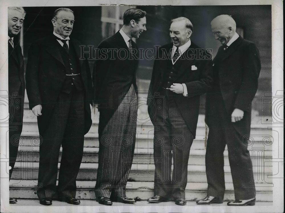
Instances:
[[[14,49],[8,42],[8,88],[9,96],[17,93],[18,96],[25,96],[25,80],[24,80],[24,59],[21,46],[16,44],[14,39]],[[20,90],[21,88],[21,90]]]

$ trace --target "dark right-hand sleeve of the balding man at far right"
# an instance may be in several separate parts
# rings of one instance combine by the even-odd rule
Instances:
[[[259,51],[254,43],[249,44],[243,54],[243,80],[234,107],[243,111],[251,111],[251,102],[258,88],[260,73]]]

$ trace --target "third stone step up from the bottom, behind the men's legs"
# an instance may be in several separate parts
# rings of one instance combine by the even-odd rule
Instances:
[[[84,147],[83,150],[83,163],[98,163],[98,147]],[[262,156],[260,155],[262,153]],[[206,150],[192,149],[190,150],[188,165],[205,165]],[[60,148],[60,156],[58,162],[60,162],[62,155],[62,147]],[[39,162],[39,146],[19,146],[17,155],[17,161],[19,162]],[[251,152],[251,158],[253,162],[266,162],[268,166],[272,165],[272,151]],[[229,166],[228,151],[224,151],[225,165]],[[154,164],[153,149],[152,148],[135,148],[135,154],[133,158],[133,164]]]

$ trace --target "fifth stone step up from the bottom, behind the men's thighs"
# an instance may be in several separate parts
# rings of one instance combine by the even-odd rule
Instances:
[[[92,126],[89,133],[98,133],[98,120],[93,119]],[[268,125],[251,125],[251,135],[269,135],[272,137],[272,130],[267,129]],[[38,125],[36,119],[24,119],[23,120],[23,132],[38,132]],[[153,125],[149,121],[147,123],[137,123],[137,133],[138,134],[153,134]],[[205,123],[203,121],[198,121],[196,135],[205,136]]]

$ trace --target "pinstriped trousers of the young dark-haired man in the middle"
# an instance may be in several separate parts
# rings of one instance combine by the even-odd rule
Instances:
[[[135,150],[137,109],[138,100],[132,84],[103,131],[99,132],[96,197],[111,197],[111,193],[125,196]]]

